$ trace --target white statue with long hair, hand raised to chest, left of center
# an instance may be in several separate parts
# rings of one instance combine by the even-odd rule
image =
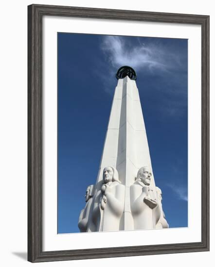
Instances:
[[[103,183],[97,192],[92,210],[92,221],[96,231],[118,231],[124,211],[125,185],[121,184],[114,167],[105,167]]]

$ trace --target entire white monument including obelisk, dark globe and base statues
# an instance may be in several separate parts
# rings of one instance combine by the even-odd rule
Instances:
[[[94,194],[86,197],[78,227],[81,232],[168,228],[153,176],[136,73],[123,66],[116,78]]]

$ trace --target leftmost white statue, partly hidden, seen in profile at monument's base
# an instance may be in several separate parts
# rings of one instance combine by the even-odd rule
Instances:
[[[89,217],[90,217],[90,208],[92,204],[92,197],[94,191],[94,185],[91,184],[88,186],[86,190],[85,200],[86,205],[83,210],[81,210],[79,220],[78,220],[78,228],[80,229],[80,232],[87,232],[88,224],[89,224]]]

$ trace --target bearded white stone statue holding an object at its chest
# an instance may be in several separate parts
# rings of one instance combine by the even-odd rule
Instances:
[[[155,186],[150,186],[152,172],[149,167],[141,167],[134,184],[130,186],[130,206],[134,220],[134,230],[155,229],[161,217]]]

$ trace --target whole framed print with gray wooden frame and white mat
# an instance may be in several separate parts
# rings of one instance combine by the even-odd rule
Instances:
[[[209,16],[28,6],[28,260],[209,250]]]

